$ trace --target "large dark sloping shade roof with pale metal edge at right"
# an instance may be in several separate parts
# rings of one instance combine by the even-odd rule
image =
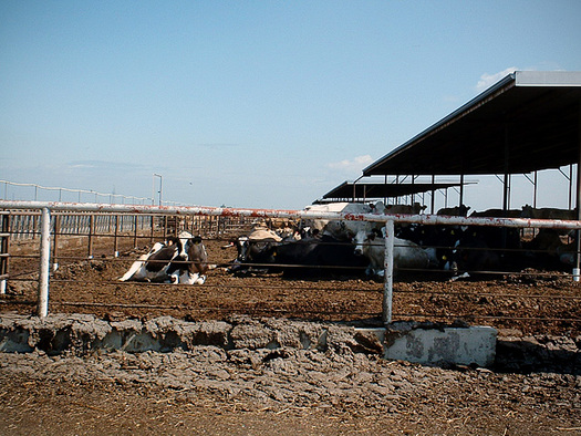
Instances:
[[[363,169],[525,174],[580,160],[581,72],[517,71]]]

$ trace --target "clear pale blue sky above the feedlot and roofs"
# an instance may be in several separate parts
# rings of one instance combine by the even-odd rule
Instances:
[[[508,72],[581,71],[580,23],[578,0],[3,0],[0,179],[300,209]]]

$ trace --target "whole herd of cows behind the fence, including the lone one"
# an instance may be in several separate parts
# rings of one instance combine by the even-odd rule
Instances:
[[[313,211],[351,214],[417,214],[411,206],[397,212],[382,204],[342,204],[308,207]],[[466,215],[469,208],[446,212]],[[532,216],[532,210],[523,211]],[[494,211],[471,216],[495,216]],[[551,212],[554,217],[554,211]],[[442,214],[440,214],[442,215]],[[523,216],[522,212],[520,215]],[[385,262],[385,227],[381,222],[303,219],[274,228],[273,221],[224,246],[236,248],[227,270],[235,274],[282,271],[287,276],[381,277]],[[270,228],[269,228],[270,227]],[[541,229],[523,238],[520,229],[476,226],[395,225],[393,263],[403,270],[449,271],[452,277],[474,271],[519,271],[525,268],[562,269],[574,261],[574,236]],[[234,257],[234,252],[232,252]],[[122,281],[201,284],[210,266],[200,237],[183,231],[157,242],[133,263]]]

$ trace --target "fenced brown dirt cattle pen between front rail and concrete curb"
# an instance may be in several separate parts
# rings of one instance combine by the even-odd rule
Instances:
[[[8,205],[11,204],[11,205]],[[111,207],[103,205],[2,204],[1,312],[38,312],[42,287],[40,208],[50,214],[51,313],[91,313],[107,320],[153,319],[172,315],[184,320],[227,320],[236,315],[276,316],[312,321],[382,325],[385,292],[393,292],[393,321],[414,320],[486,324],[518,329],[530,334],[581,334],[581,290],[570,268],[485,271],[452,280],[449,271],[436,269],[397,271],[385,282],[370,279],[361,270],[336,270],[325,274],[288,277],[256,271],[235,276],[227,271],[237,256],[224,248],[252,225],[271,218],[299,222],[308,214],[212,208]],[[23,206],[28,206],[25,209]],[[35,206],[35,207],[31,207]],[[69,210],[70,209],[70,210]],[[74,209],[74,211],[73,211]],[[77,210],[76,210],[77,209]],[[103,210],[105,209],[105,210]],[[331,219],[369,217],[323,214]],[[23,218],[25,217],[25,218]],[[22,219],[30,225],[23,230]],[[463,218],[438,222],[429,216],[394,217],[428,225],[454,225]],[[464,218],[464,220],[466,220]],[[474,221],[474,220],[473,220]],[[511,220],[489,220],[509,224]],[[512,220],[513,221],[513,220]],[[577,221],[518,220],[519,228],[578,228]],[[525,222],[526,221],[526,222]],[[68,225],[64,226],[63,224]],[[79,224],[74,228],[71,222]],[[392,221],[393,222],[393,221]],[[469,222],[469,220],[468,220]],[[480,219],[480,222],[484,222]],[[31,227],[32,226],[32,227]],[[168,233],[187,230],[200,235],[209,262],[204,284],[120,282],[133,261]],[[44,247],[45,249],[46,247]],[[58,263],[58,268],[56,268]],[[390,280],[393,283],[388,282]]]

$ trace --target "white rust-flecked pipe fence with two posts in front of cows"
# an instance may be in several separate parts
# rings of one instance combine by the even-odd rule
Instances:
[[[436,215],[375,215],[375,214],[341,214],[341,212],[321,212],[321,211],[305,211],[305,210],[276,210],[276,209],[242,209],[242,208],[224,208],[224,207],[186,207],[186,206],[143,206],[143,205],[103,205],[103,204],[71,204],[71,203],[48,203],[48,201],[8,201],[0,200],[1,217],[7,217],[15,211],[35,211],[39,215],[39,232],[40,232],[40,268],[39,268],[39,284],[38,284],[38,315],[46,316],[48,314],[48,295],[49,295],[49,280],[50,280],[50,257],[51,257],[51,217],[58,217],[59,214],[106,214],[127,215],[133,216],[135,221],[139,221],[137,217],[149,217],[149,227],[155,227],[153,217],[163,217],[164,225],[172,228],[167,224],[168,217],[179,219],[180,217],[189,217],[198,219],[197,225],[200,228],[204,225],[216,225],[215,231],[220,231],[220,220],[212,220],[211,218],[228,218],[243,220],[250,219],[272,219],[284,218],[291,220],[301,219],[324,219],[324,220],[349,220],[349,221],[369,221],[385,225],[385,263],[384,263],[384,292],[382,304],[382,320],[384,323],[392,322],[392,300],[393,300],[393,281],[394,281],[394,240],[395,240],[395,224],[418,224],[418,225],[449,225],[449,226],[485,226],[485,227],[509,227],[509,228],[552,228],[567,230],[581,230],[581,221],[566,221],[566,220],[541,220],[529,218],[466,218],[466,217],[448,217]],[[200,221],[201,218],[210,218],[209,221]],[[147,221],[147,218],[143,220]],[[118,222],[118,221],[117,221]],[[225,221],[222,221],[225,222]],[[240,221],[242,222],[242,221]],[[4,224],[2,224],[2,227]],[[54,227],[52,227],[54,228]],[[111,226],[106,227],[107,231]],[[116,227],[117,228],[117,227]],[[133,229],[135,229],[135,226]],[[174,225],[174,231],[177,232],[177,226]],[[94,225],[90,229],[94,231]],[[2,243],[7,239],[6,232],[0,233]],[[149,235],[153,238],[153,232]],[[2,250],[2,253],[8,252]],[[578,250],[579,258],[579,250]],[[0,257],[0,260],[4,258]],[[579,260],[578,260],[579,264]],[[1,273],[2,271],[0,271]],[[579,268],[573,269],[573,279],[579,281]],[[6,289],[6,277],[0,276],[2,288]]]

